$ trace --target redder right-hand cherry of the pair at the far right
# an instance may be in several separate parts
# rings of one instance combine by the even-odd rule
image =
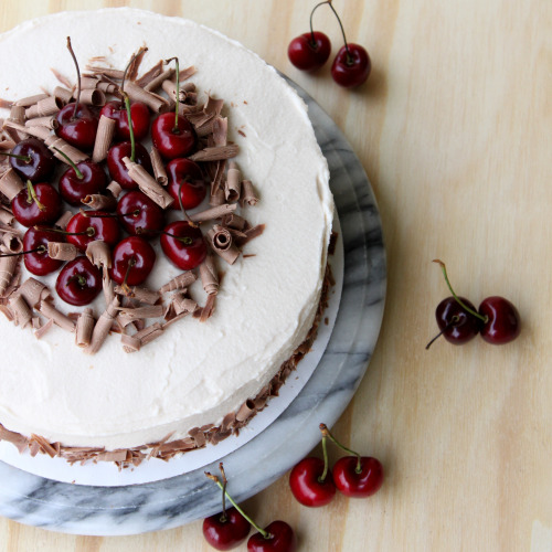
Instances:
[[[479,305],[479,314],[487,318],[481,337],[488,343],[505,344],[513,341],[521,331],[518,309],[503,297],[487,297]]]

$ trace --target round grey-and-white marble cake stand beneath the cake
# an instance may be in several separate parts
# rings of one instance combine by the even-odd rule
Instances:
[[[383,315],[385,252],[370,182],[335,123],[298,92],[330,167],[344,247],[343,289],[333,332],[310,380],[276,422],[224,458],[229,490],[237,501],[266,488],[308,454],[320,440],[320,422],[331,426],[338,420],[367,370]],[[205,478],[205,469],[217,473],[215,464],[151,484],[91,487],[0,463],[0,516],[77,534],[169,529],[220,509],[220,491]]]

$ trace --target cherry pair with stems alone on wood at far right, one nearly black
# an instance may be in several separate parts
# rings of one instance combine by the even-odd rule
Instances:
[[[465,297],[455,294],[448,280],[445,263],[435,259],[453,294],[443,299],[435,309],[439,333],[427,343],[426,349],[440,336],[454,344],[464,344],[478,333],[491,344],[505,344],[513,341],[521,331],[518,309],[508,299],[500,296],[487,297],[476,310]]]

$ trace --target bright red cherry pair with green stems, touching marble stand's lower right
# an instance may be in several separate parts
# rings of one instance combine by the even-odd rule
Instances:
[[[383,466],[372,456],[361,456],[350,450],[320,424],[323,459],[309,456],[300,460],[289,474],[289,487],[294,497],[304,506],[318,508],[333,500],[336,491],[350,498],[367,498],[381,488]],[[328,469],[327,439],[348,453]]]

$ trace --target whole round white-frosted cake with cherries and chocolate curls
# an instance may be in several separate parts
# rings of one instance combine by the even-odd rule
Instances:
[[[120,465],[225,438],[320,316],[332,199],[302,102],[240,44],[140,10],[0,44],[21,61],[1,89],[0,438]]]

